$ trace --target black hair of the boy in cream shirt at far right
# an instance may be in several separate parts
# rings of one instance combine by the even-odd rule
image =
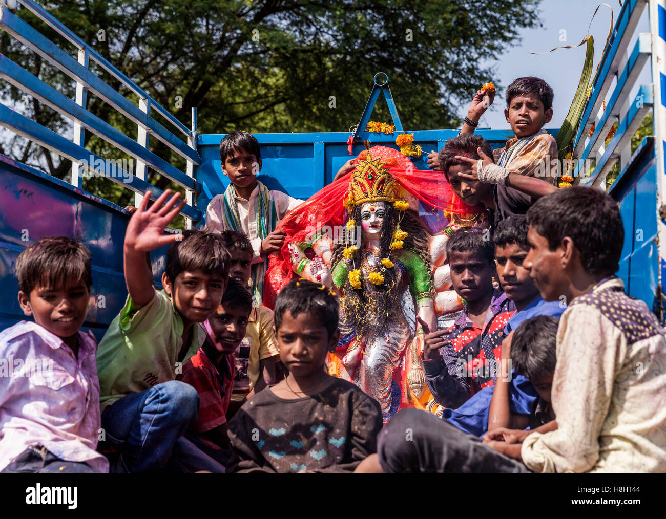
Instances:
[[[624,226],[617,203],[605,192],[583,186],[557,190],[527,210],[527,223],[547,240],[549,250],[569,236],[588,274],[619,269]]]

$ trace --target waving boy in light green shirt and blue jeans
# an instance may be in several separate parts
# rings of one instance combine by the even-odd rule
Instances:
[[[105,454],[119,454],[112,472],[222,472],[220,464],[183,437],[198,414],[199,397],[176,381],[202,345],[205,321],[220,305],[229,254],[218,236],[201,231],[163,234],[182,210],[166,190],[148,208],[150,192],[127,224],[124,247],[127,303],[99,344]],[[166,202],[166,203],[165,203]],[[164,290],[155,291],[146,254],[170,244]]]

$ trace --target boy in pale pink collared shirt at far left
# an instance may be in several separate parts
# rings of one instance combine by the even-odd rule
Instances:
[[[16,261],[19,304],[35,321],[0,333],[1,472],[108,472],[100,429],[97,341],[79,330],[90,252],[43,238]]]

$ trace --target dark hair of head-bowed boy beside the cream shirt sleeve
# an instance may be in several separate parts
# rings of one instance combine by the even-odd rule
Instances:
[[[530,380],[553,375],[558,325],[559,319],[551,315],[520,323],[511,339],[511,364],[518,373]]]

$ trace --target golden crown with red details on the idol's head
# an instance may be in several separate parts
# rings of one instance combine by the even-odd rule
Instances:
[[[345,206],[353,208],[366,202],[395,202],[397,187],[396,179],[388,172],[382,158],[372,158],[368,151],[365,160],[360,159],[356,164]]]

